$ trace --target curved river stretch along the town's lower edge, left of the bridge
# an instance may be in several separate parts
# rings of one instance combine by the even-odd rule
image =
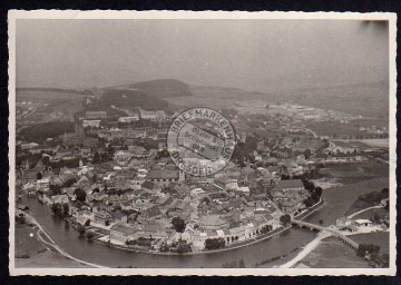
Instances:
[[[23,196],[36,219],[51,235],[55,242],[71,256],[89,263],[109,267],[138,268],[216,268],[226,262],[244,259],[246,267],[256,263],[292,252],[311,242],[316,233],[309,229],[291,228],[270,239],[237,249],[197,255],[151,255],[135,253],[102,244],[88,242],[79,237],[78,232],[69,223],[55,217],[50,207],[42,205],[36,197]]]

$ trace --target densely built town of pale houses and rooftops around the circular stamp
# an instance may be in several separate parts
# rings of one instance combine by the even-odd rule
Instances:
[[[48,205],[77,236],[105,246],[147,253],[185,254],[236,248],[291,226],[291,219],[322,207],[331,187],[326,166],[388,161],[388,149],[360,137],[319,136],[309,124],[338,126],[358,119],[293,105],[222,109],[236,130],[232,160],[211,176],[180,170],[166,136],[180,110],[136,108],[129,116],[106,110],[74,116],[74,131],[41,141],[17,141],[18,195]],[[252,108],[251,108],[252,109]],[[365,139],[388,129],[361,127]],[[334,177],[335,178],[335,177]],[[381,197],[385,207],[387,197]],[[18,215],[26,205],[17,200]],[[339,217],[339,230],[388,226],[389,217]]]

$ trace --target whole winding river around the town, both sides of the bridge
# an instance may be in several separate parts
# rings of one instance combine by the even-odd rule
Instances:
[[[325,200],[323,208],[316,210],[304,220],[324,226],[335,224],[335,219],[345,214],[346,209],[359,195],[380,190],[388,187],[389,178],[381,177],[360,181],[343,187],[333,187],[323,191]],[[218,268],[226,262],[244,259],[246,267],[256,263],[291,253],[294,248],[305,246],[315,236],[315,232],[293,227],[270,239],[252,244],[237,249],[197,254],[197,255],[151,255],[107,247],[102,244],[80,238],[78,232],[69,223],[55,217],[50,207],[42,205],[36,197],[23,196],[36,219],[48,230],[55,242],[71,256],[109,267],[141,267],[141,268]]]

